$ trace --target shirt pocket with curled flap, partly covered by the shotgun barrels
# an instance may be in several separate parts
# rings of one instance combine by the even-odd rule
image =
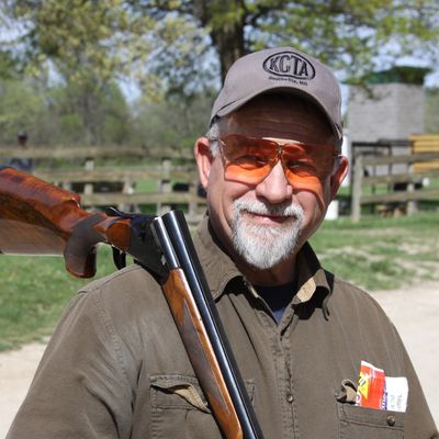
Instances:
[[[245,383],[250,401],[255,383]],[[222,438],[207,401],[194,376],[150,376],[151,438]]]

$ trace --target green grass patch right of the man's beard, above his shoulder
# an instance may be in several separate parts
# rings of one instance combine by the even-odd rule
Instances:
[[[439,279],[439,214],[325,222],[312,244],[322,263],[367,290]]]

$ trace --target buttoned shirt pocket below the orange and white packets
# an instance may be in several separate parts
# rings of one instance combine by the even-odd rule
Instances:
[[[347,403],[337,405],[340,439],[404,438],[404,413],[358,407]]]

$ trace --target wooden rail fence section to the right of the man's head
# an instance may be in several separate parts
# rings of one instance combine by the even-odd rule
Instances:
[[[405,205],[407,214],[416,210],[420,200],[439,200],[439,188],[425,188],[425,179],[438,178],[439,160],[437,153],[419,153],[401,156],[368,157],[362,154],[354,156],[351,187],[351,219],[358,222],[361,206],[372,205]],[[405,165],[406,172],[395,175],[368,176],[370,167]],[[365,189],[369,188],[367,193]],[[381,189],[378,191],[376,189]],[[383,191],[383,188],[385,190]]]

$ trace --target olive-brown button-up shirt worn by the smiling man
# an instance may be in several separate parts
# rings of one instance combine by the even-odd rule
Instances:
[[[194,244],[266,439],[427,439],[438,431],[392,323],[308,245],[279,325],[203,222]],[[358,407],[361,360],[406,376],[406,413]],[[159,284],[131,266],[71,301],[9,439],[222,438]]]

